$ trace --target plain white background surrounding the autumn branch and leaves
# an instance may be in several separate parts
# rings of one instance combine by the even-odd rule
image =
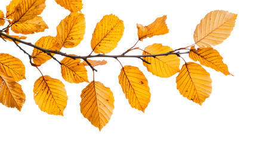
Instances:
[[[134,45],[137,41],[137,23],[146,26],[157,17],[167,15],[169,33],[144,39],[137,46],[144,48],[153,43],[162,43],[177,49],[193,44],[196,25],[210,11],[226,10],[238,14],[231,36],[214,47],[234,76],[224,76],[205,67],[211,74],[212,94],[202,106],[179,94],[175,83],[177,74],[162,79],[147,72],[140,60],[123,58],[123,65],[140,67],[149,80],[151,101],[145,113],[142,113],[131,108],[125,99],[118,83],[121,66],[117,61],[107,58],[107,65],[95,67],[98,70],[95,80],[109,87],[115,97],[113,115],[101,132],[80,112],[80,94],[88,83],[65,82],[60,74],[60,65],[54,60],[47,61],[40,67],[42,73],[60,79],[66,86],[69,100],[64,116],[44,113],[33,101],[33,84],[41,76],[39,71],[30,66],[27,55],[14,43],[0,39],[0,52],[20,58],[26,66],[26,80],[19,82],[26,94],[21,112],[0,104],[0,142],[256,142],[256,9],[252,2],[254,1],[83,1],[82,13],[85,14],[86,21],[84,41],[73,49],[61,49],[69,54],[90,54],[95,25],[106,14],[117,15],[125,26],[124,36],[118,47],[110,52],[113,55],[122,54]],[[5,6],[9,3],[9,0],[2,0],[0,10],[5,13]],[[47,0],[46,5],[41,16],[49,29],[27,35],[26,41],[35,43],[41,36],[55,36],[60,20],[69,15],[69,11],[57,5],[54,0]],[[31,47],[21,46],[32,53]],[[56,57],[59,60],[63,58]],[[187,55],[183,57],[186,61],[191,61]],[[182,60],[181,64],[184,64]],[[89,68],[88,76],[91,81],[92,72]]]

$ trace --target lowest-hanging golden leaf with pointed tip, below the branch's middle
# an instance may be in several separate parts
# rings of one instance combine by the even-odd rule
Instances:
[[[92,81],[82,91],[81,98],[81,113],[101,130],[113,114],[115,100],[112,91],[102,83]]]

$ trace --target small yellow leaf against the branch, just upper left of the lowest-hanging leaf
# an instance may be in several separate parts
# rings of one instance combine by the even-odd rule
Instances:
[[[65,57],[61,60],[61,74],[64,80],[70,83],[89,82],[87,70],[84,64],[80,63],[81,60],[76,58]]]

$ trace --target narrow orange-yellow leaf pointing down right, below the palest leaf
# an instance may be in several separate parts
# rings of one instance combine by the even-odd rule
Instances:
[[[230,74],[227,65],[222,61],[223,58],[218,51],[213,48],[198,48],[198,50],[196,50],[195,46],[193,46],[189,52],[189,57],[194,61],[199,61],[203,66],[221,71],[221,73],[226,76]]]

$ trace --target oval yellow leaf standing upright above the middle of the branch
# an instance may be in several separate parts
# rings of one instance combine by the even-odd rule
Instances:
[[[118,46],[124,32],[124,21],[116,15],[105,15],[97,23],[91,39],[91,48],[95,53],[107,54]]]

